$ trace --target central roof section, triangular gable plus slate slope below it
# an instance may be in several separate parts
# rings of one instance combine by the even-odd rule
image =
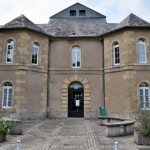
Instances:
[[[76,11],[75,16],[70,15],[71,10]],[[79,15],[80,10],[85,10],[85,16]],[[46,31],[56,37],[93,37],[104,33],[106,28],[106,16],[75,3],[51,16]]]

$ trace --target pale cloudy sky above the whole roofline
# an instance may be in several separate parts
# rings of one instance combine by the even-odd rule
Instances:
[[[0,0],[0,25],[24,14],[32,22],[47,23],[49,17],[79,2],[119,23],[130,13],[150,22],[150,0]]]

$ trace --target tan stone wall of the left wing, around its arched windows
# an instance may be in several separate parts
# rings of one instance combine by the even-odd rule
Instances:
[[[0,33],[0,96],[2,86],[9,81],[13,86],[12,107],[0,108],[5,115],[21,119],[41,119],[46,114],[48,37],[27,30]],[[7,40],[14,41],[13,63],[6,63]],[[39,62],[32,66],[32,44],[39,43]],[[2,101],[0,102],[2,103]]]

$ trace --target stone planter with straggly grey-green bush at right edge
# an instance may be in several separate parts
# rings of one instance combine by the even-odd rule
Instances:
[[[150,145],[150,110],[137,111],[134,141],[139,145]]]

